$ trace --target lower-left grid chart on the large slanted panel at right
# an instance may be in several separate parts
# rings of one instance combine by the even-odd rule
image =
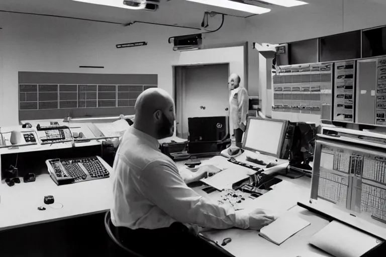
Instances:
[[[320,171],[318,197],[333,203],[347,202],[348,179],[334,173]]]

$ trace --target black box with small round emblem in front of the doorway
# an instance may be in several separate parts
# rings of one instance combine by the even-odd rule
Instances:
[[[213,142],[229,139],[228,116],[192,117],[187,119],[189,142]]]

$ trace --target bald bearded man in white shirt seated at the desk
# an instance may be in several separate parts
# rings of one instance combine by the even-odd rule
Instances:
[[[203,250],[224,256],[189,228],[260,229],[273,217],[262,210],[235,211],[186,186],[175,163],[159,151],[158,140],[173,134],[174,118],[174,101],[164,90],[139,95],[134,124],[114,161],[112,222],[120,240],[145,256],[198,256]]]

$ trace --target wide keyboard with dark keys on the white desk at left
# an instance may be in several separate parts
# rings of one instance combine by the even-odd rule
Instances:
[[[52,180],[65,185],[110,177],[108,164],[99,156],[74,159],[51,159],[46,165]]]

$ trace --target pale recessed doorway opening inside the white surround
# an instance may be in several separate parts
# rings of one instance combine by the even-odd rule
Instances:
[[[177,137],[187,139],[189,117],[229,116],[229,63],[174,68]]]

